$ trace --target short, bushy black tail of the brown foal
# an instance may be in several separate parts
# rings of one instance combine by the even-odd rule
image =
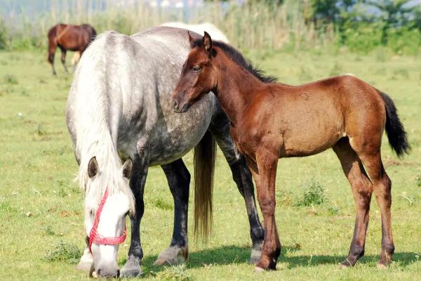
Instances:
[[[396,154],[401,157],[403,153],[410,152],[410,145],[408,143],[408,136],[403,124],[398,117],[396,106],[393,103],[392,98],[387,96],[385,93],[380,92],[383,100],[385,101],[386,107],[386,133],[389,138],[390,146]]]

